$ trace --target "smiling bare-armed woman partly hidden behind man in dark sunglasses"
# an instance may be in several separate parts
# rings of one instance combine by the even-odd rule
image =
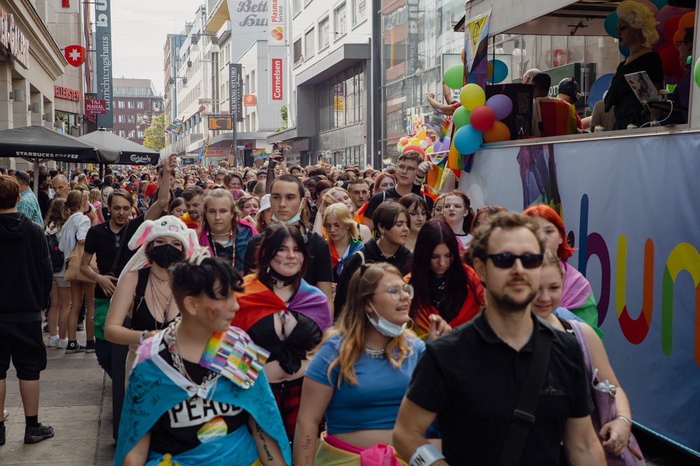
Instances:
[[[575,334],[584,353],[584,361],[589,366],[589,380],[594,381],[597,377],[599,381],[608,381],[615,386],[615,414],[617,417],[601,425],[600,416],[598,416],[597,411],[593,411],[591,419],[593,428],[601,437],[608,464],[619,464],[621,459],[619,456],[625,453],[631,435],[632,415],[629,399],[624,390],[622,390],[615,372],[610,367],[610,361],[608,360],[608,354],[605,353],[603,342],[598,338],[598,334],[596,334],[593,327],[582,322],[582,320],[568,312],[567,309],[560,306],[563,279],[564,271],[561,269],[556,255],[549,249],[544,250],[542,272],[540,274],[540,290],[537,291],[537,295],[533,299],[533,313],[547,320],[547,323],[556,330]],[[591,390],[594,389],[591,387]],[[595,397],[593,401],[596,404]],[[639,453],[638,449],[635,450]]]

